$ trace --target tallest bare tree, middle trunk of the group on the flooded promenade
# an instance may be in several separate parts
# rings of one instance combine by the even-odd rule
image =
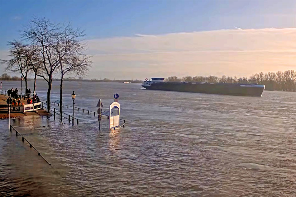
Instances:
[[[45,18],[34,17],[30,25],[21,31],[21,36],[25,40],[31,41],[31,45],[36,47],[39,52],[39,58],[42,62],[37,76],[42,77],[48,83],[47,90],[47,111],[50,110],[50,91],[52,85],[52,76],[59,68],[59,56],[53,46],[57,44],[58,25],[51,23]]]

